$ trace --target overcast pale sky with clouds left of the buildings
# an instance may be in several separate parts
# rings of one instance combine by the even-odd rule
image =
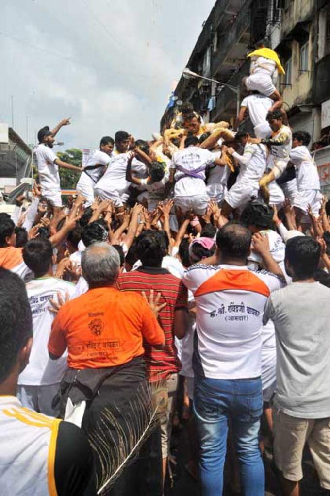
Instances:
[[[71,117],[64,148],[158,131],[214,0],[0,0],[0,122],[34,143]],[[42,50],[41,50],[42,49]],[[62,148],[61,148],[62,149]]]

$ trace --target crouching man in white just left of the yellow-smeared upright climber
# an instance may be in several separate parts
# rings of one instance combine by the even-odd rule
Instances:
[[[244,146],[244,153],[240,155],[234,148],[228,148],[228,153],[240,165],[240,173],[236,183],[225,194],[221,213],[227,218],[234,209],[243,209],[253,196],[258,196],[259,181],[266,170],[268,158],[266,145],[253,143],[248,132],[239,131],[235,139]]]

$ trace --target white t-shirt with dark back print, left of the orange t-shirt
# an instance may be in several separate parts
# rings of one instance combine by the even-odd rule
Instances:
[[[18,384],[45,386],[61,382],[66,371],[66,355],[59,360],[48,356],[48,340],[55,313],[50,311],[49,300],[58,301],[58,293],[64,298],[66,293],[72,298],[74,285],[56,277],[40,277],[26,284],[27,296],[32,311],[33,344],[29,363],[18,376]]]

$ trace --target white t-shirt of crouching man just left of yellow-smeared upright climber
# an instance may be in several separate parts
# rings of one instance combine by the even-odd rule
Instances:
[[[260,180],[267,165],[267,147],[263,144],[247,143],[243,155],[233,153],[240,163],[238,181],[256,182]]]

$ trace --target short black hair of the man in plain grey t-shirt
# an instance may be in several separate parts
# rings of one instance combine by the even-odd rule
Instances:
[[[293,271],[292,276],[304,280],[314,276],[319,265],[320,254],[319,243],[308,236],[297,236],[288,240],[286,244],[285,262],[290,265]]]

